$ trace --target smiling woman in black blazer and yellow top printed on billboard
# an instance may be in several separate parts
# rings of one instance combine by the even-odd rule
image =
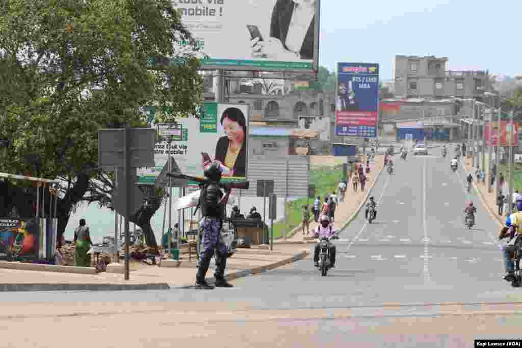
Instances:
[[[245,177],[246,175],[246,119],[237,107],[228,107],[221,115],[225,133],[218,139],[215,161],[221,164],[223,176]],[[203,167],[211,161],[204,159]]]

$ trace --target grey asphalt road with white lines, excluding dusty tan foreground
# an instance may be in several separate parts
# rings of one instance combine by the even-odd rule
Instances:
[[[360,214],[337,241],[337,267],[321,277],[311,259],[234,281],[234,289],[213,292],[171,290],[85,293],[84,301],[239,301],[256,308],[346,308],[383,303],[509,301],[518,290],[502,280],[498,226],[474,192],[466,193],[465,173],[449,168],[438,149],[429,155],[395,155],[395,174],[383,173],[373,196],[377,219]],[[463,223],[465,203],[478,208],[477,225]],[[151,295],[154,294],[154,295]],[[34,297],[32,297],[34,296]],[[70,301],[74,293],[35,293],[42,301]],[[514,296],[514,297],[513,297]],[[22,293],[3,294],[16,301]]]

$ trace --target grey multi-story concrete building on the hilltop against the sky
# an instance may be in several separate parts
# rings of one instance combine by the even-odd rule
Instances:
[[[450,71],[448,58],[396,55],[395,95],[403,98],[463,98],[484,101],[487,71]]]

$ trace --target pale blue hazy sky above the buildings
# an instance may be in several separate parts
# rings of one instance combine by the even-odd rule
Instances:
[[[519,0],[321,1],[319,64],[381,65],[392,78],[396,54],[448,57],[450,70],[522,74]]]

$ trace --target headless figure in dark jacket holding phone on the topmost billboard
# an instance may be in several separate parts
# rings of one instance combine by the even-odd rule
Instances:
[[[257,27],[249,27],[252,56],[277,60],[313,59],[317,0],[277,0],[264,41]]]

